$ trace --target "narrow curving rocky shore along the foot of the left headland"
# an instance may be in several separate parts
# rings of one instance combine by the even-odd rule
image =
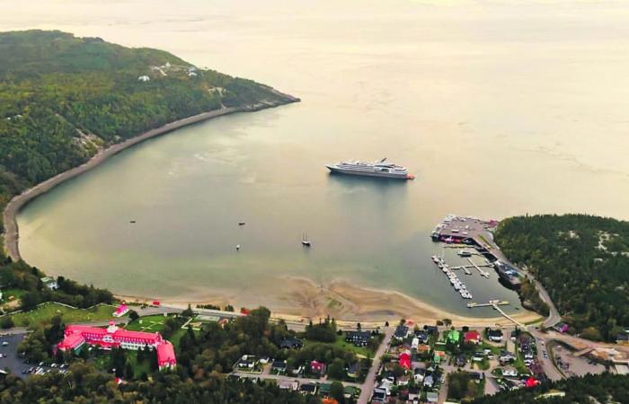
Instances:
[[[18,228],[17,224],[17,215],[20,213],[22,207],[26,206],[34,198],[45,194],[50,189],[54,189],[59,184],[66,182],[66,180],[71,180],[76,176],[83,174],[85,171],[92,170],[94,167],[102,164],[102,162],[106,162],[107,160],[109,160],[115,154],[119,154],[123,150],[144,142],[147,139],[162,136],[182,127],[187,127],[199,122],[222,117],[236,112],[255,112],[258,110],[266,110],[269,108],[275,108],[281,105],[301,101],[297,97],[293,97],[292,95],[284,94],[278,91],[274,92],[284,97],[285,101],[268,101],[260,102],[250,106],[229,107],[222,108],[220,110],[210,110],[208,112],[202,112],[198,115],[193,115],[188,118],[169,122],[163,127],[155,127],[155,129],[150,129],[140,135],[129,137],[123,142],[101,149],[98,153],[90,157],[87,162],[71,168],[70,170],[60,172],[54,177],[51,177],[48,180],[44,180],[39,184],[31,187],[30,189],[24,190],[21,194],[14,196],[13,198],[11,198],[9,203],[6,204],[3,212],[4,233],[2,234],[2,236],[4,237],[4,250],[6,251],[7,257],[11,258],[14,262],[22,260],[19,246],[20,229]]]

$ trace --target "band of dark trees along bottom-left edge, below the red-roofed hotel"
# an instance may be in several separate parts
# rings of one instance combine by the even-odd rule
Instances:
[[[49,373],[22,381],[0,379],[0,403],[177,403],[177,404],[315,404],[316,397],[280,390],[272,384],[227,381],[220,374],[192,382],[179,373],[157,373],[152,382],[118,386],[111,374],[77,363],[66,374]]]

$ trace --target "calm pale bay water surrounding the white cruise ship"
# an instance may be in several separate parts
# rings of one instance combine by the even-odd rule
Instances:
[[[38,198],[18,218],[28,262],[120,294],[279,305],[284,277],[347,279],[469,314],[430,263],[444,215],[629,217],[629,5],[232,3],[0,4],[4,30],[164,48],[303,100],[183,128]],[[385,156],[417,179],[323,166]]]

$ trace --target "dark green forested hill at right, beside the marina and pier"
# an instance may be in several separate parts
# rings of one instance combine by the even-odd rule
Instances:
[[[613,341],[629,327],[629,222],[535,215],[501,222],[496,242],[545,286],[571,332]]]

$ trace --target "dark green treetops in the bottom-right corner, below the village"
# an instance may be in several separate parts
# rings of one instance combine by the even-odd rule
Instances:
[[[543,396],[549,391],[563,391],[565,396]],[[629,402],[629,377],[611,373],[588,374],[560,382],[545,382],[535,389],[502,391],[493,396],[484,396],[472,401],[473,404],[522,404],[530,402],[540,404],[627,403]]]

